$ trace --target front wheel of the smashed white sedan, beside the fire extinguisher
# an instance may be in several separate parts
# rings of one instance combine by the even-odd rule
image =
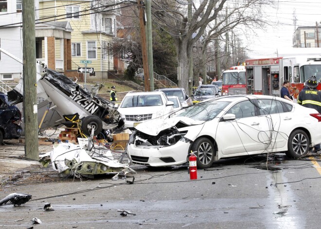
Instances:
[[[208,138],[199,138],[194,141],[191,150],[196,152],[196,166],[198,169],[210,168],[214,161],[215,149]]]

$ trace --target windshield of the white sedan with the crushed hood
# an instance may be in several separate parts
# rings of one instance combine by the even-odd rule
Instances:
[[[178,116],[184,116],[200,121],[210,121],[213,120],[230,103],[231,102],[228,101],[211,101],[207,103],[200,103],[187,108]]]

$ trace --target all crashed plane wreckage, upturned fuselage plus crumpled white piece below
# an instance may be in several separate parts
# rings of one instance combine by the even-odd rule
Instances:
[[[96,174],[117,173],[114,176],[116,178],[119,174],[136,173],[128,164],[122,163],[123,156],[118,160],[114,159],[106,147],[92,143],[94,135],[102,133],[107,137],[110,133],[124,129],[124,121],[114,104],[97,95],[101,86],[97,85],[89,91],[65,75],[47,69],[43,63],[37,63],[36,68],[37,97],[47,100],[47,104],[51,103],[50,109],[58,114],[49,115],[51,125],[75,125],[90,136],[87,139],[79,138],[79,145],[59,144],[39,161],[44,166],[52,162],[59,173],[74,176],[93,177]],[[8,92],[11,104],[23,101],[23,91],[21,78],[19,84]]]

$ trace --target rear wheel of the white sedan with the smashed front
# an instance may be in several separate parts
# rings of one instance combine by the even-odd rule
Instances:
[[[309,136],[303,130],[295,130],[289,136],[285,154],[289,158],[299,159],[308,154],[309,146]]]

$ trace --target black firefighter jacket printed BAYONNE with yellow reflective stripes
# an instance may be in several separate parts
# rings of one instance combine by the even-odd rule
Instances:
[[[308,88],[301,91],[298,96],[298,104],[316,109],[321,113],[321,91],[315,88]]]

